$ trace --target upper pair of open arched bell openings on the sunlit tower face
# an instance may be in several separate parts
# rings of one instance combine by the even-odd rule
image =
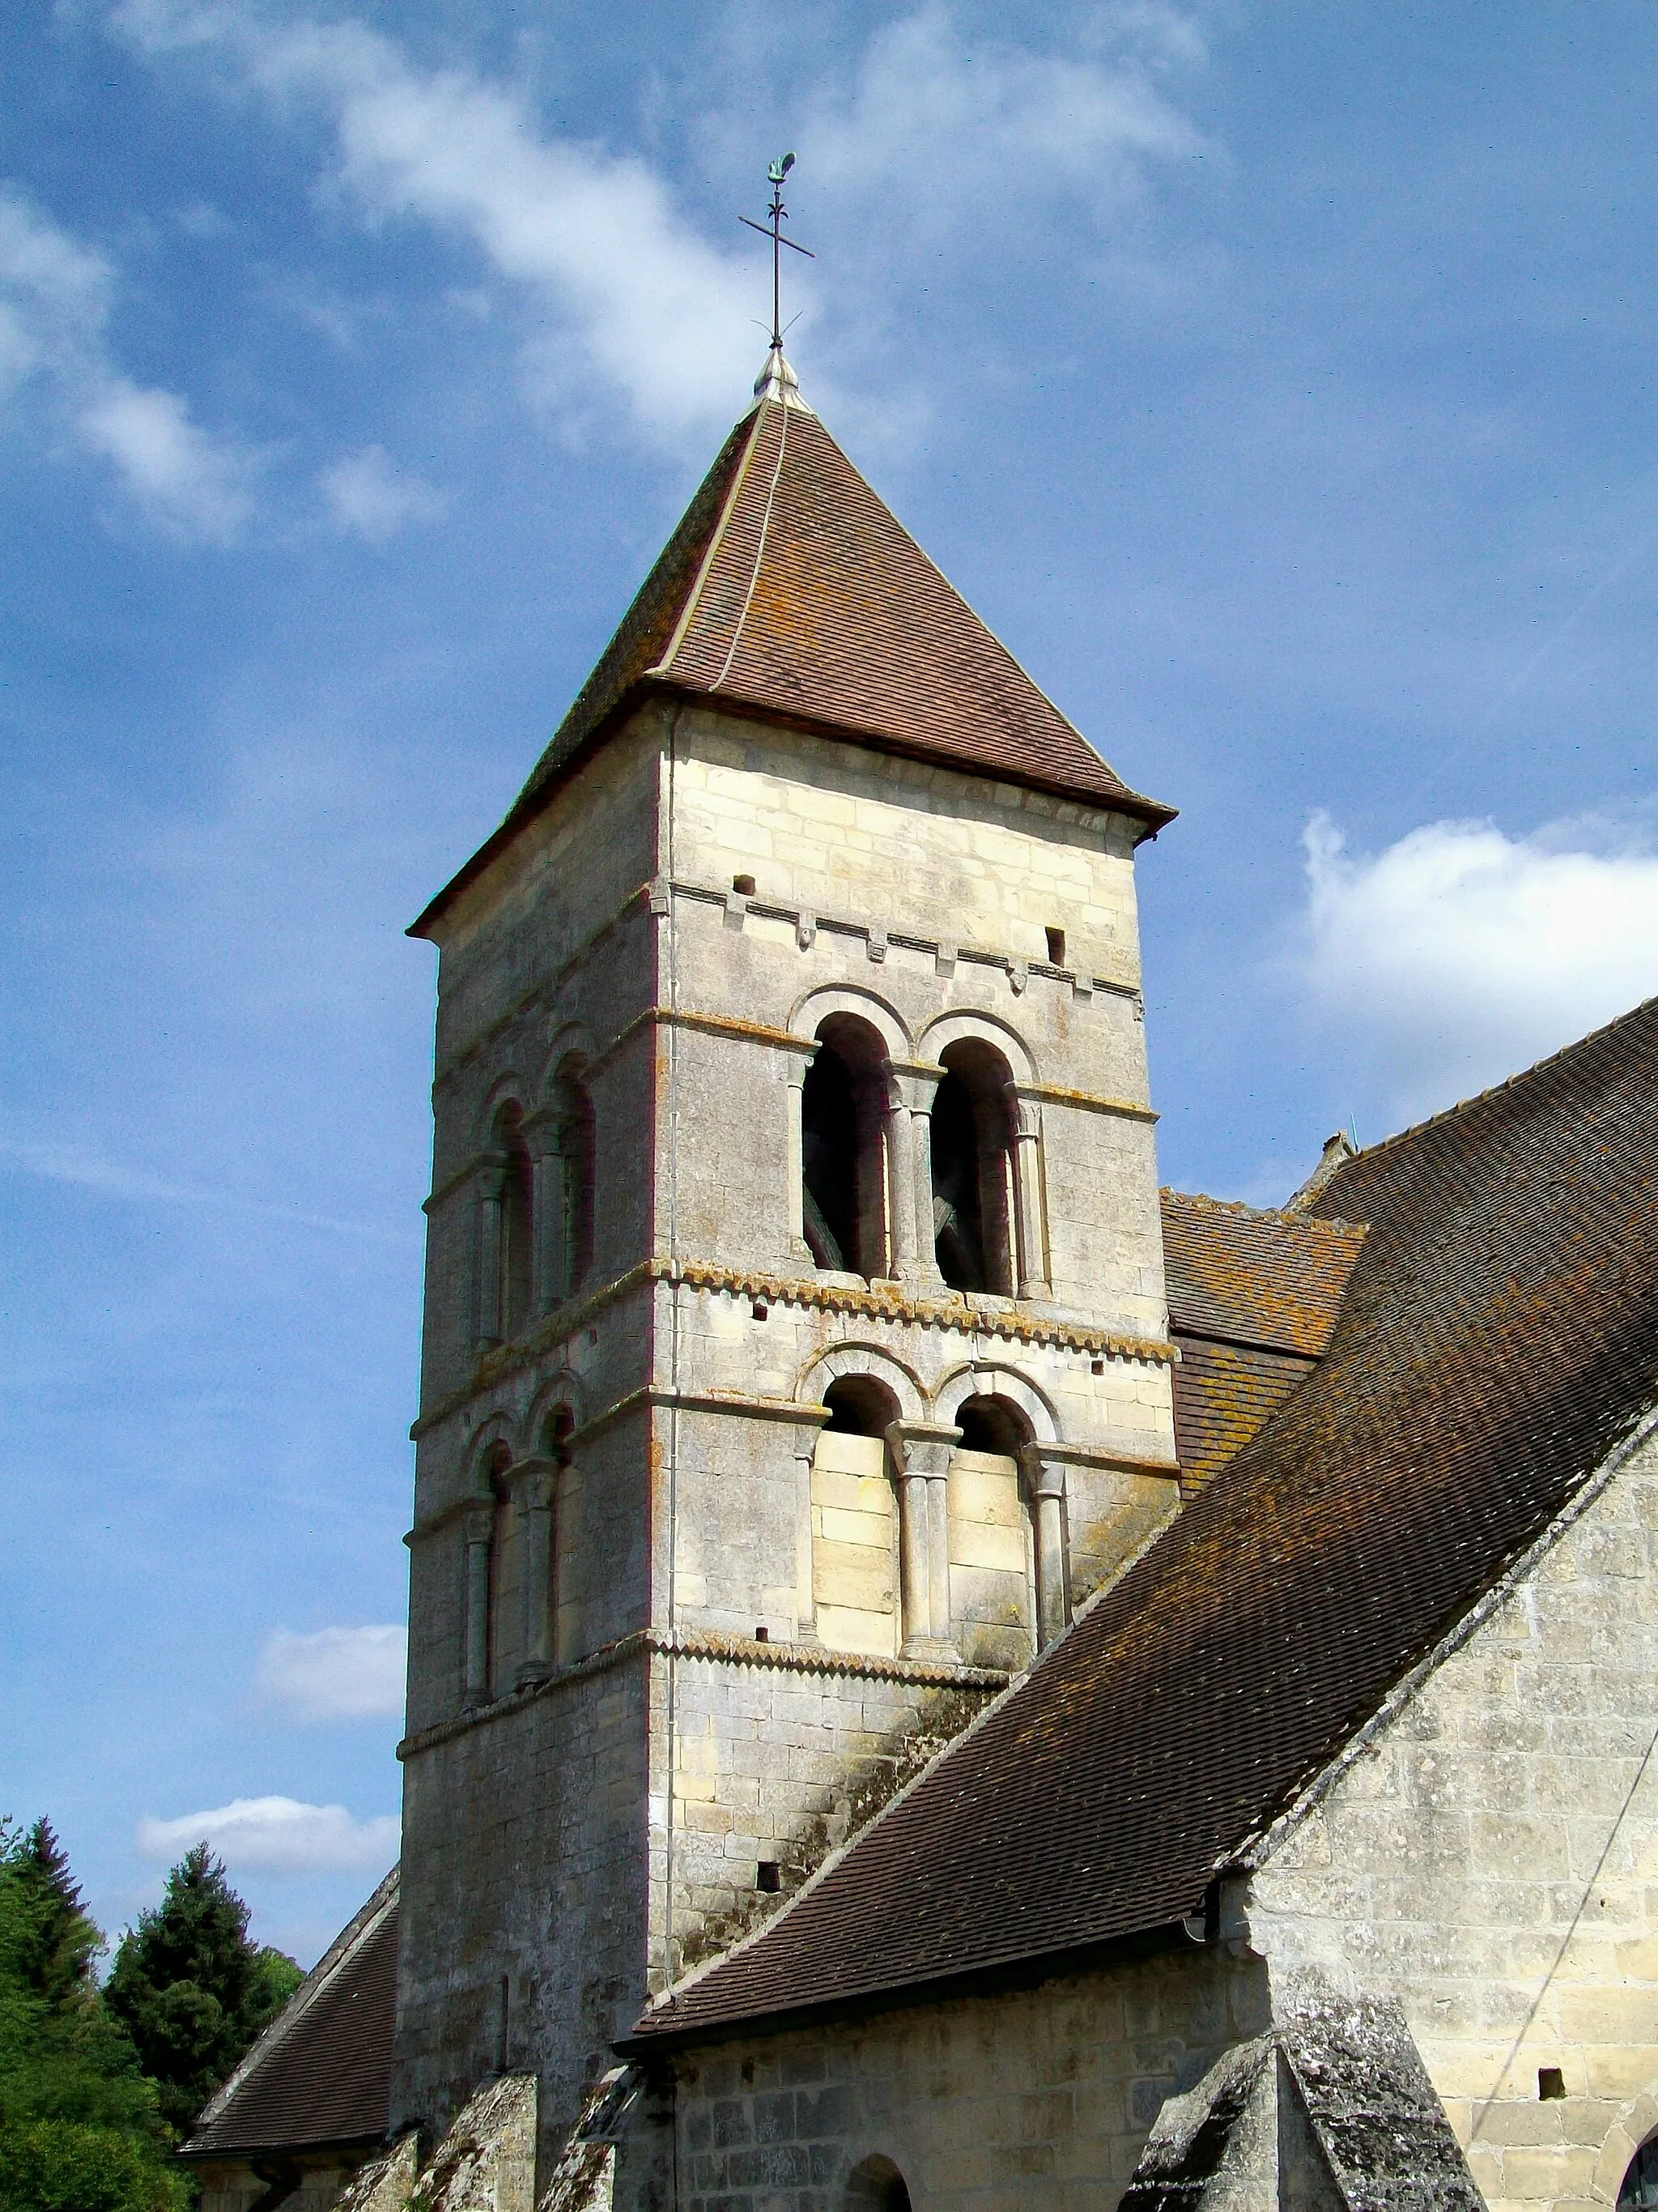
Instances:
[[[1037,1130],[1008,1051],[968,1031],[937,1064],[898,1068],[906,1046],[889,1031],[884,1009],[838,1004],[811,1033],[796,1095],[798,1234],[814,1265],[1046,1296]]]

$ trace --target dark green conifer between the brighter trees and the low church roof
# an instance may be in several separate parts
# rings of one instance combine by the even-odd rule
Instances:
[[[157,2086],[161,2117],[188,2135],[301,1971],[248,1940],[248,1907],[206,1843],[168,1876],[153,1913],[122,1936],[104,2002]]]

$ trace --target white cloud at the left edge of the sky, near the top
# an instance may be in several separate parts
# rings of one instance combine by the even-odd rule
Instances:
[[[119,372],[106,334],[111,288],[102,254],[0,188],[0,400],[38,383],[60,431],[113,462],[150,520],[225,544],[252,513],[250,458],[195,422],[177,392]]]

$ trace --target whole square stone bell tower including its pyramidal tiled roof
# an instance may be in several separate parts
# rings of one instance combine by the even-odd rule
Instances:
[[[774,349],[440,947],[393,2119],[542,2143],[1176,1506],[1136,796]]]

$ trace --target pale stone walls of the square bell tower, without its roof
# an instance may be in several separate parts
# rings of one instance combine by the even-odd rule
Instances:
[[[787,1896],[917,1743],[1026,1663],[1030,1484],[1077,1599],[1176,1509],[1134,836],[659,701],[433,925],[400,2121],[440,2121],[511,2064],[539,2075],[555,2141],[648,1991]],[[893,1113],[926,1115],[953,1042],[1004,1055],[1039,1225],[1019,1296],[944,1290],[902,1128],[891,1270],[814,1267],[798,1099],[829,1011],[880,1031]],[[592,1102],[592,1261],[564,1303],[480,1343],[493,1115],[546,1113],[570,1053]],[[920,1657],[893,1615],[895,1502],[882,1571],[880,1544],[851,1557],[867,1528],[831,1531],[844,1500],[814,1500],[847,1473],[829,1447],[814,1475],[847,1374],[878,1376],[935,1453],[968,1398],[997,1398],[1041,1455],[951,1471],[944,1619]]]

